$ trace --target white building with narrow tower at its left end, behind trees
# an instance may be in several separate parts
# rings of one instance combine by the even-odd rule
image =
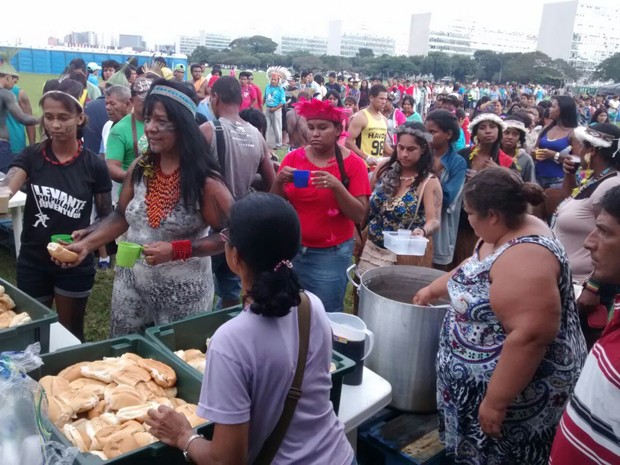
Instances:
[[[409,55],[443,52],[472,56],[476,50],[498,53],[533,52],[536,36],[504,29],[490,29],[475,21],[454,21],[431,26],[431,13],[411,15]]]

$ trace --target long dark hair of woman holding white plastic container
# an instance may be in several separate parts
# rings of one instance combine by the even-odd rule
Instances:
[[[422,123],[405,123],[399,127],[414,131],[417,130],[430,136],[430,133]],[[418,173],[418,175],[413,181],[413,184],[411,184],[411,189],[415,190],[422,183],[422,181],[424,181],[431,173],[431,168],[433,166],[433,151],[431,150],[430,143],[424,137],[420,137],[417,134],[410,134],[408,132],[397,132],[396,140],[400,141],[400,138],[403,135],[412,136],[415,139],[416,143],[422,149],[422,155],[420,155],[420,159],[413,167],[413,169]],[[389,161],[387,163],[384,163],[377,172],[377,179],[385,178],[384,181],[387,181],[390,186],[392,186],[392,189],[390,189],[393,190],[391,195],[394,195],[400,188],[400,171],[401,166],[400,162],[398,161],[397,147],[390,156]]]

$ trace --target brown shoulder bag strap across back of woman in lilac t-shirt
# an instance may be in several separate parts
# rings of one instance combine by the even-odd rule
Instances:
[[[297,307],[297,323],[299,327],[299,354],[297,356],[297,368],[295,376],[291,384],[286,400],[284,401],[284,410],[271,432],[253,465],[269,465],[278,453],[278,449],[286,436],[286,431],[293,419],[297,402],[303,395],[301,385],[304,380],[304,372],[306,370],[306,359],[308,356],[308,343],[310,341],[310,301],[308,296],[303,292],[300,294],[301,303]]]

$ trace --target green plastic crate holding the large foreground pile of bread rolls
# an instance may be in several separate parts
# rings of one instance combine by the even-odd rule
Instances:
[[[30,372],[29,375],[35,380],[39,380],[46,375],[57,375],[64,368],[78,362],[91,362],[101,360],[103,357],[119,357],[126,352],[133,352],[141,357],[152,358],[169,365],[177,374],[177,397],[198,404],[202,384],[201,377],[176,355],[163,350],[161,346],[146,340],[142,336],[124,336],[102,342],[81,344],[43,355],[43,366]],[[48,428],[51,430],[52,439],[66,446],[71,445],[65,435],[53,423],[48,422]],[[212,423],[205,423],[196,429],[198,433],[206,437],[213,435]],[[181,465],[187,462],[178,449],[156,442],[105,462],[92,454],[79,453],[75,463],[79,465],[102,465],[104,463],[114,465]]]

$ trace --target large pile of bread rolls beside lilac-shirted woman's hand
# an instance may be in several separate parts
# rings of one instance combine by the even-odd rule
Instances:
[[[126,353],[76,363],[39,383],[49,418],[67,439],[81,452],[108,460],[157,441],[144,424],[151,408],[173,408],[192,427],[207,421],[196,415],[196,405],[177,397],[176,381],[168,365]]]

